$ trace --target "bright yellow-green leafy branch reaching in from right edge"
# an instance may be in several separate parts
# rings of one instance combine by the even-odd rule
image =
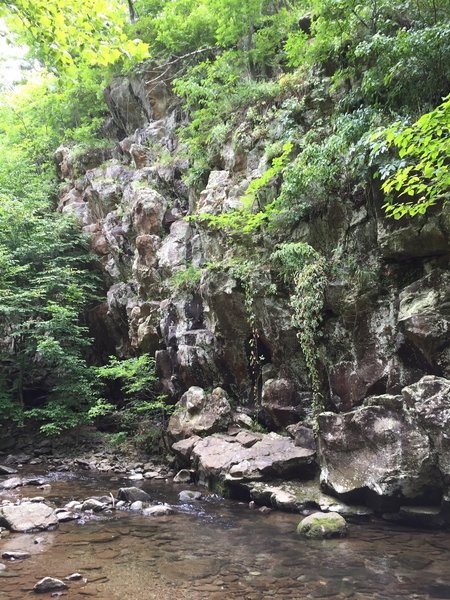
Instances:
[[[401,219],[425,214],[430,206],[449,201],[450,96],[413,125],[394,123],[373,136],[372,141],[376,141],[372,151],[375,160],[389,148],[394,148],[400,158],[396,169],[390,162],[378,172],[388,216]]]

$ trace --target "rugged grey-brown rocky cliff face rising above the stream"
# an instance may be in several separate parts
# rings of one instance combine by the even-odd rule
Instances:
[[[239,206],[248,183],[267,167],[263,145],[255,141],[246,152],[224,146],[207,185],[194,192],[183,182],[180,104],[165,86],[145,79],[148,75],[119,79],[106,90],[115,149],[78,158],[66,148],[57,153],[65,182],[60,209],[80,218],[108,285],[98,330],[108,332],[107,343],[119,355],[155,355],[162,388],[174,400],[192,386],[220,386],[238,404],[256,407],[269,429],[299,421],[309,426],[311,390],[287,294],[274,291],[274,274],[261,266],[251,325],[239,280],[214,268],[232,258],[226,237],[185,219]],[[450,378],[450,215],[399,223],[385,219],[381,204],[376,191],[331,199],[292,231],[293,240],[311,244],[333,265],[320,342],[322,384],[332,411],[320,419],[322,480],[335,494],[364,488],[381,495],[423,495],[426,482],[399,487],[391,475],[386,488],[373,478],[363,477],[353,487],[336,480],[341,460],[336,457],[344,453],[348,461],[354,454],[351,461],[358,462],[372,427],[375,454],[391,444],[384,438],[378,443],[381,430],[423,450],[408,469],[426,472],[439,496],[447,475],[437,467],[436,435],[424,432],[422,409],[422,416],[410,417],[401,394],[425,375]],[[270,247],[274,241],[255,243]],[[447,397],[448,391],[442,394]],[[350,432],[357,442],[347,439]],[[446,439],[445,432],[439,435]],[[401,479],[403,463],[393,456],[392,477]]]

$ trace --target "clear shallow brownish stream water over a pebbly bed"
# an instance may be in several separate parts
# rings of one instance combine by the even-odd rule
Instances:
[[[124,483],[99,475],[47,477],[45,495],[58,504],[116,492]],[[181,505],[178,492],[186,486],[142,487],[177,514],[117,512],[0,540],[1,552],[32,553],[24,561],[2,561],[0,598],[39,597],[32,587],[40,578],[79,572],[86,581],[70,583],[65,595],[71,600],[450,599],[449,532],[365,523],[351,524],[347,539],[306,541],[296,537],[296,515],[261,514],[215,496]],[[9,496],[19,494],[43,495],[21,488]]]

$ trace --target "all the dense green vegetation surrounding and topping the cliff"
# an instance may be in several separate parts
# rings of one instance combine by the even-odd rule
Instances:
[[[105,406],[106,372],[87,361],[101,283],[77,223],[54,211],[52,155],[63,142],[108,143],[102,89],[142,60],[183,100],[191,187],[220,167],[225,144],[264,146],[267,170],[242,208],[201,219],[230,234],[237,256],[261,230],[279,243],[272,263],[294,282],[318,388],[324,262],[291,244],[290,228],[330,197],[368,194],[374,177],[395,218],[448,201],[448,0],[8,0],[0,16],[41,65],[0,101],[1,418],[57,432]]]

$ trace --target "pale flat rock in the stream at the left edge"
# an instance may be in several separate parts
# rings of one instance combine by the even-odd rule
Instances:
[[[24,502],[2,506],[0,525],[18,533],[43,531],[58,527],[58,517],[53,508],[43,502]]]

